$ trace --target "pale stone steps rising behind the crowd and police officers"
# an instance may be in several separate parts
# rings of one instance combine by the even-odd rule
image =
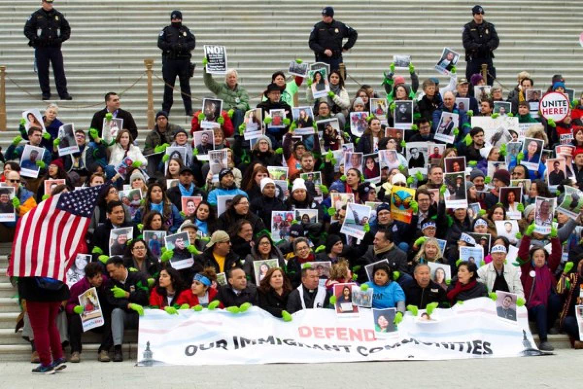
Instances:
[[[337,0],[328,2],[339,20],[359,32],[359,40],[345,55],[349,74],[360,83],[382,90],[382,71],[388,69],[394,54],[411,54],[420,79],[436,76],[433,70],[441,50],[448,46],[462,54],[458,72],[465,72],[461,30],[471,19],[471,5],[466,1],[427,3]],[[33,49],[22,34],[24,22],[38,1],[0,0],[6,17],[0,26],[2,64],[8,75],[30,92],[29,96],[12,82],[7,82],[9,129],[15,130],[23,110],[45,103],[38,101],[40,91],[33,72]],[[486,19],[496,24],[501,44],[494,64],[503,85],[512,88],[516,74],[526,69],[536,85],[546,89],[553,73],[562,73],[567,86],[583,89],[583,74],[578,72],[583,50],[578,44],[582,12],[578,1],[486,0],[482,2]],[[168,24],[172,9],[181,9],[184,24],[197,38],[193,62],[200,62],[203,44],[225,44],[229,67],[240,72],[240,82],[258,103],[271,73],[287,69],[296,57],[313,61],[307,46],[312,25],[319,19],[321,6],[309,0],[234,1],[215,3],[176,0],[63,0],[56,8],[69,20],[72,38],[64,45],[65,68],[73,101],[62,101],[59,118],[87,128],[94,111],[100,109],[103,95],[120,92],[143,74],[143,59],[154,59],[154,72],[161,76],[157,34]],[[445,78],[442,78],[445,82]],[[351,97],[358,87],[347,80]],[[154,77],[154,109],[161,107],[163,84]],[[202,83],[201,65],[191,80],[196,99],[209,96]],[[55,93],[54,87],[52,88]],[[180,96],[175,94],[171,120],[188,124]],[[304,93],[300,94],[304,101]],[[58,101],[60,103],[60,101]],[[96,104],[94,107],[79,107]],[[194,102],[198,107],[200,101]],[[140,141],[147,132],[146,79],[142,79],[122,97],[122,107],[131,111],[138,122]],[[0,134],[6,146],[15,132]]]

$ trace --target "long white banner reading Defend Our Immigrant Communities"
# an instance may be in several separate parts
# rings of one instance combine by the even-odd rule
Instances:
[[[496,315],[486,297],[436,309],[429,321],[407,313],[396,331],[379,332],[370,309],[338,317],[308,309],[285,322],[258,307],[225,310],[146,310],[140,318],[138,365],[247,365],[258,363],[441,360],[540,355],[525,307],[518,323]],[[381,322],[381,320],[378,320]]]

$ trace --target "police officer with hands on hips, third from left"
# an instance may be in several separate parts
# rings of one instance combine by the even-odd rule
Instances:
[[[322,21],[316,23],[310,33],[310,48],[314,51],[316,62],[330,65],[330,70],[340,68],[342,52],[350,50],[356,43],[358,34],[350,26],[334,20],[334,9],[322,9]],[[348,38],[346,44],[342,40]]]

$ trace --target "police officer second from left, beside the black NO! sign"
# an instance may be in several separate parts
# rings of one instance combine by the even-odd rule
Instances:
[[[175,9],[170,14],[170,26],[164,27],[158,37],[158,47],[162,50],[162,75],[164,82],[174,86],[176,76],[180,80],[180,90],[183,92],[184,111],[192,116],[192,99],[190,97],[190,78],[192,76],[190,52],[196,47],[196,38],[187,27],[182,26],[182,12]],[[194,70],[194,69],[193,69]],[[162,110],[170,113],[174,90],[164,85],[164,102]]]

